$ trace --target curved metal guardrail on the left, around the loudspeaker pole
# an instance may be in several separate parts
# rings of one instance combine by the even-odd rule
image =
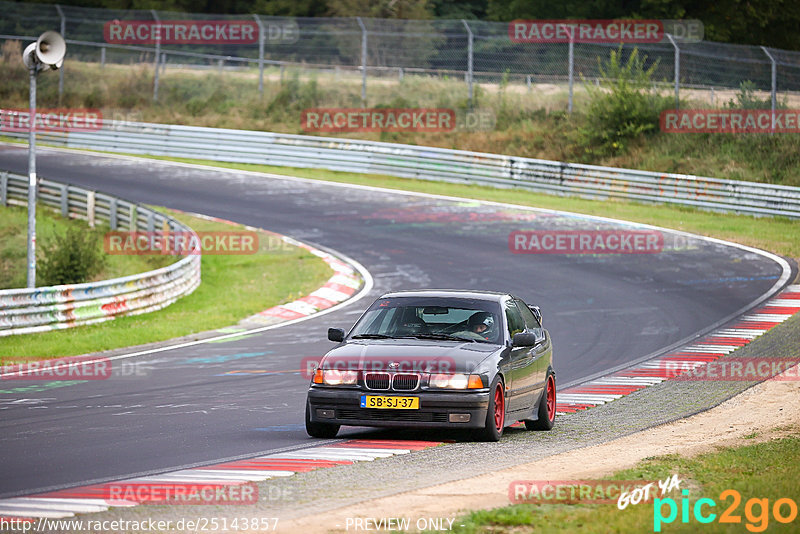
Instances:
[[[172,217],[111,195],[39,181],[42,204],[90,226],[107,221],[112,230],[192,232]],[[0,172],[0,204],[26,205],[28,177]],[[146,273],[86,284],[0,291],[0,337],[69,328],[161,309],[200,284],[200,254]]]

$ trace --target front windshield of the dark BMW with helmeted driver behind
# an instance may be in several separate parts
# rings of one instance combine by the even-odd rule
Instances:
[[[350,338],[417,337],[499,343],[498,310],[498,303],[480,299],[378,299],[353,327]]]

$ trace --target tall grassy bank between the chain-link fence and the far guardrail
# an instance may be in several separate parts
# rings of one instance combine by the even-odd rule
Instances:
[[[19,58],[23,43],[8,41],[0,54],[0,102],[7,108],[28,106],[27,70]],[[603,57],[592,57],[606,62]],[[39,107],[96,108],[106,119],[185,124],[215,128],[314,133],[302,130],[300,116],[308,108],[358,108],[361,77],[355,73],[309,71],[289,67],[281,81],[279,70],[267,68],[264,94],[258,92],[258,70],[198,71],[170,65],[159,78],[159,100],[153,102],[153,69],[149,64],[107,64],[68,59],[63,95],[59,97],[57,75],[38,79]],[[800,135],[798,134],[675,134],[653,130],[637,135],[606,153],[587,143],[582,132],[601,128],[616,137],[631,120],[622,110],[618,121],[602,126],[601,115],[590,106],[584,83],[575,84],[574,113],[567,114],[566,84],[523,84],[504,77],[498,83],[475,84],[470,104],[467,86],[458,76],[435,78],[406,73],[403,81],[373,78],[368,82],[367,106],[388,108],[448,108],[465,113],[474,108],[488,111],[496,119],[485,130],[457,129],[450,132],[356,132],[335,134],[340,138],[363,138],[443,148],[458,148],[559,161],[572,161],[691,173],[783,185],[800,185]],[[656,80],[654,80],[656,81]],[[662,96],[672,98],[669,86]],[[709,94],[683,90],[682,109],[709,107]],[[714,104],[721,107],[769,108],[764,93],[717,90]],[[783,95],[786,96],[786,95]],[[759,101],[759,99],[761,99]],[[796,98],[789,107],[796,107]],[[781,99],[782,103],[783,99]],[[628,109],[628,113],[630,109]],[[657,116],[657,113],[656,113]],[[326,134],[327,135],[327,134]]]

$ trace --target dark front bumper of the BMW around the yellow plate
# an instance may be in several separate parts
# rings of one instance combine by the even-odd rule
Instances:
[[[362,395],[418,397],[420,407],[418,410],[361,408]],[[483,428],[489,407],[489,390],[390,393],[311,387],[308,390],[308,403],[311,421],[315,423],[414,428]]]

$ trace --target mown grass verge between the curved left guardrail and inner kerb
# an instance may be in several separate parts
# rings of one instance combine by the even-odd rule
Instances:
[[[196,231],[236,229],[165,211]],[[333,274],[327,264],[304,249],[267,246],[275,243],[267,234],[262,234],[259,243],[257,254],[204,255],[200,287],[163,310],[97,325],[0,338],[0,364],[140,345],[234,325],[310,293]]]

